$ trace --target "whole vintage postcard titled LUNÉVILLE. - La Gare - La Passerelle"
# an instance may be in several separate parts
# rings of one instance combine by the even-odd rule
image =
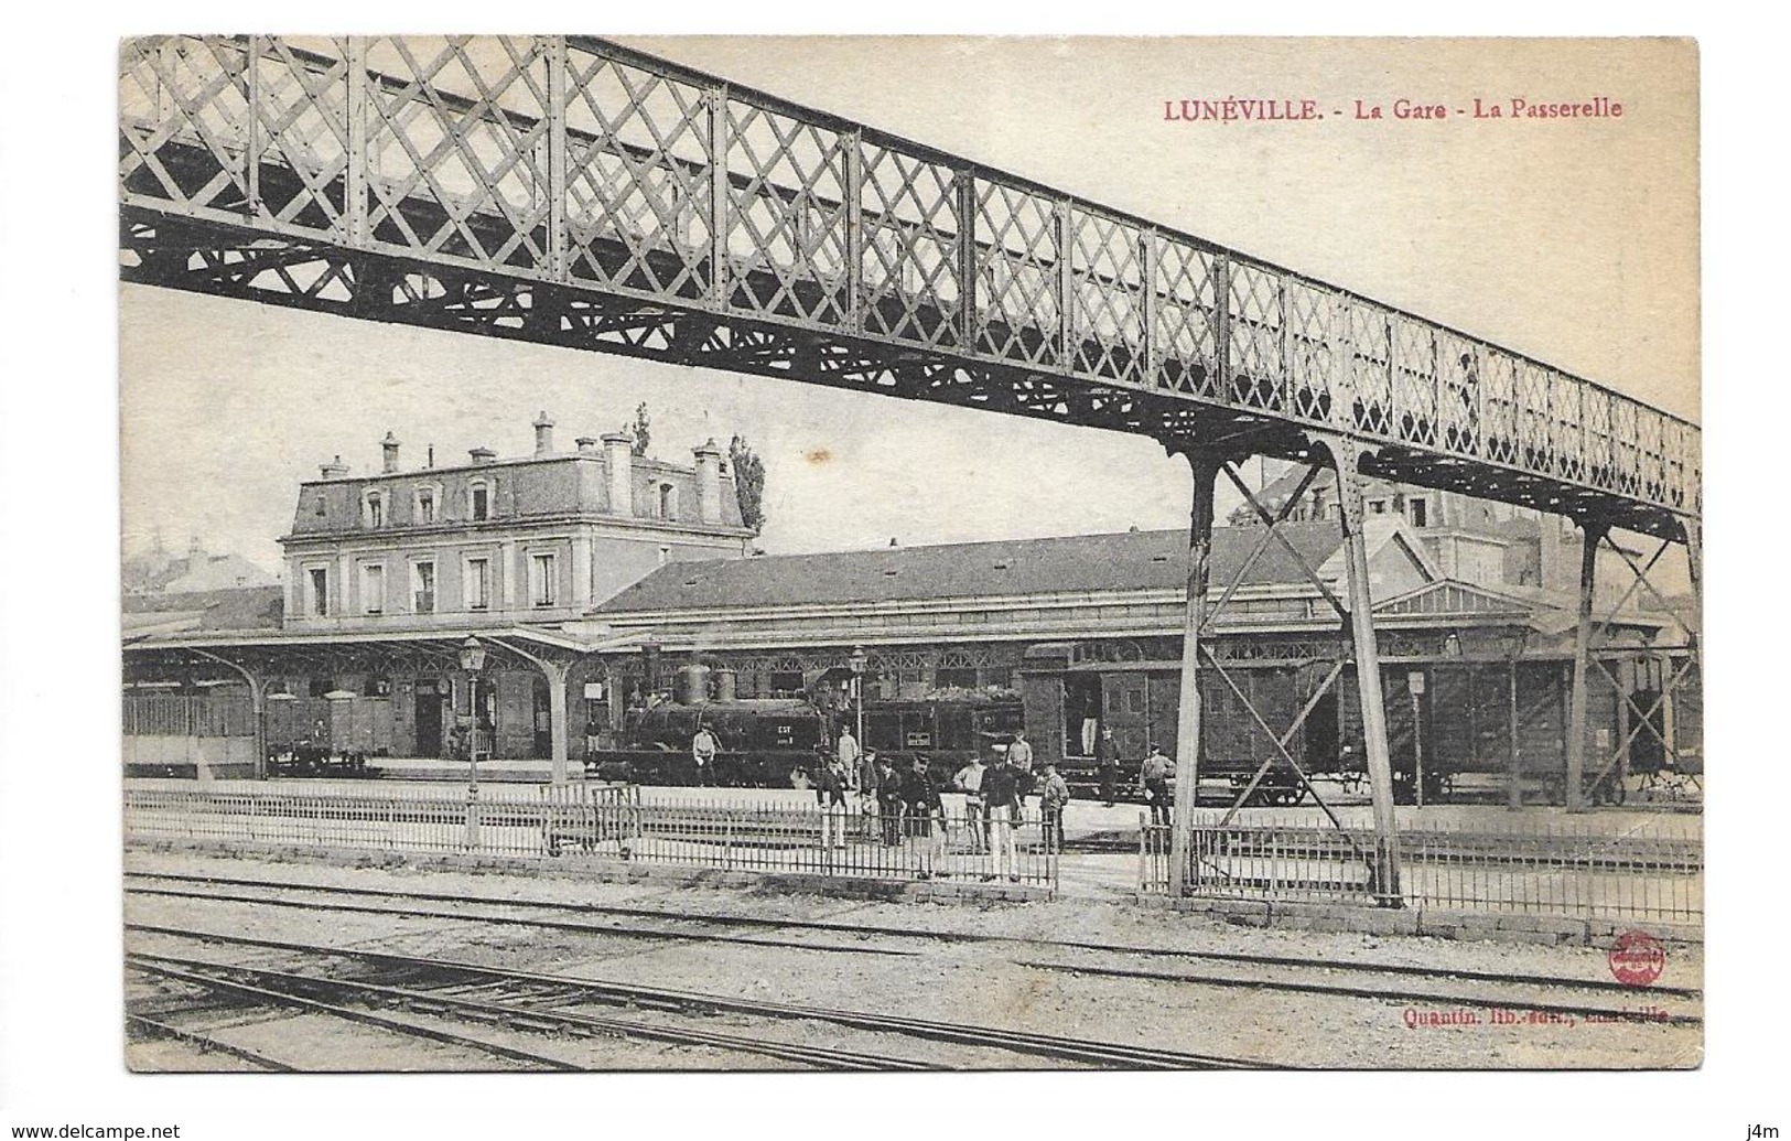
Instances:
[[[125,39],[129,1068],[1700,1066],[1698,107]]]

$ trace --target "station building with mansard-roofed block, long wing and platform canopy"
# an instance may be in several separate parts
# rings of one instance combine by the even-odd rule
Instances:
[[[405,471],[387,435],[376,475],[324,466],[299,487],[278,598],[127,613],[127,734],[168,727],[150,718],[156,702],[235,702],[229,727],[260,745],[238,743],[231,770],[322,720],[371,756],[464,756],[473,740],[575,774],[587,751],[616,747],[630,706],[675,697],[681,666],[725,675],[738,699],[826,700],[856,654],[867,704],[1021,702],[1041,759],[1087,758],[1101,725],[1123,756],[1152,743],[1175,754],[1186,534],[752,555],[716,446],[673,466],[632,455],[623,435],[561,453],[552,428],[543,416],[536,453],[516,460],[475,450]],[[1288,509],[1286,546],[1261,543],[1248,507],[1214,528],[1214,591],[1236,586],[1211,629],[1223,670],[1204,682],[1213,758],[1266,758],[1270,733],[1300,709],[1286,742],[1297,758],[1324,767],[1359,751],[1345,629],[1325,600],[1345,575],[1334,485],[1320,476],[1288,505],[1298,489],[1290,475],[1257,496]],[[1390,484],[1370,485],[1367,507],[1395,765],[1422,751],[1463,792],[1478,781],[1558,799],[1547,777],[1565,756],[1574,534]],[[1605,604],[1621,600],[1610,571]],[[1698,679],[1678,668],[1687,634],[1633,604],[1610,623],[1589,772],[1658,763],[1662,740],[1696,756]],[[458,661],[467,636],[489,652],[476,686]],[[937,743],[890,724],[883,747]]]

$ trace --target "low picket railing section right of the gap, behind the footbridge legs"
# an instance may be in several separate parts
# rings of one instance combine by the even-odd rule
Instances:
[[[1196,824],[1187,894],[1209,899],[1377,903],[1374,831],[1309,822]],[[1411,908],[1703,919],[1703,840],[1673,822],[1406,824],[1401,899]],[[1170,828],[1139,819],[1139,890],[1170,892]]]

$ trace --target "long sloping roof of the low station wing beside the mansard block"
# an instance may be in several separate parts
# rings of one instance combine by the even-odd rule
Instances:
[[[1334,521],[1286,523],[1281,534],[1315,568],[1341,543]],[[1214,528],[1214,589],[1230,582],[1261,537],[1261,528]],[[1186,582],[1187,532],[1141,530],[673,562],[595,613],[1146,591],[1180,589]],[[1300,582],[1306,575],[1279,543],[1270,543],[1245,577],[1245,586]]]

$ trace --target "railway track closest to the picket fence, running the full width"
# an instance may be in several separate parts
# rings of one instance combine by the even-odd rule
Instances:
[[[901,940],[908,944],[938,944],[938,942],[996,942],[996,944],[1019,944],[1030,948],[1042,948],[1058,955],[1055,960],[1037,960],[1026,958],[1019,960],[1028,967],[1055,973],[1084,973],[1084,974],[1107,974],[1112,978],[1135,978],[1141,982],[1166,982],[1166,983],[1184,983],[1184,985],[1209,985],[1209,987],[1254,987],[1263,991],[1284,991],[1298,994],[1333,994],[1340,998],[1379,998],[1388,1001],[1411,1001],[1411,1003],[1456,1003],[1472,1007],[1521,1007],[1526,1010],[1555,1010],[1558,1014],[1580,1014],[1594,1017],[1630,1017],[1632,1008],[1628,1003],[1646,999],[1655,1001],[1680,1001],[1694,1003],[1701,998],[1701,991],[1694,987],[1626,987],[1615,980],[1589,980],[1589,978],[1567,978],[1567,976],[1537,976],[1537,974],[1519,974],[1519,973],[1499,973],[1499,971],[1465,971],[1465,969],[1438,969],[1424,967],[1413,964],[1390,964],[1390,962],[1359,962],[1359,960],[1320,960],[1311,957],[1291,957],[1291,955],[1255,955],[1239,951],[1187,951],[1175,948],[1153,948],[1143,944],[1121,944],[1121,942],[1078,942],[1062,939],[1017,939],[1012,935],[992,935],[981,931],[917,931],[913,928],[897,926],[879,926],[879,924],[854,924],[838,921],[804,921],[804,919],[774,919],[765,915],[690,915],[682,912],[668,912],[663,908],[639,908],[639,906],[620,906],[620,905],[586,905],[586,903],[553,903],[539,899],[494,899],[494,897],[467,897],[451,896],[441,892],[408,892],[396,888],[338,888],[328,885],[281,885],[267,879],[253,878],[227,878],[227,876],[177,876],[177,874],[149,874],[149,872],[125,872],[127,890],[131,892],[152,892],[152,894],[176,894],[190,897],[208,897],[208,899],[233,899],[227,892],[215,892],[215,888],[249,888],[261,892],[276,892],[276,896],[254,896],[242,897],[242,903],[276,903],[278,906],[322,906],[326,910],[367,910],[381,912],[389,908],[365,906],[365,905],[337,905],[331,897],[358,897],[358,899],[380,899],[385,903],[401,905],[390,914],[407,914],[410,903],[453,903],[453,905],[476,905],[485,908],[509,908],[525,914],[593,914],[609,915],[614,919],[645,919],[654,922],[652,928],[627,928],[620,922],[616,924],[578,924],[568,921],[544,921],[544,919],[505,919],[496,915],[478,915],[478,919],[489,919],[494,922],[528,922],[541,926],[555,926],[559,930],[587,931],[596,935],[632,935],[632,937],[661,937],[661,939],[686,939],[686,940],[716,940],[716,942],[752,942],[747,937],[733,935],[734,930],[783,930],[783,931],[808,931],[824,933],[829,937],[849,935],[858,940],[881,939],[881,940]],[[201,888],[213,890],[181,890],[181,888],[154,888],[154,887],[131,887],[133,883],[143,881],[176,881],[199,885]],[[310,894],[313,899],[294,899],[292,896]],[[315,899],[321,896],[322,899]],[[467,917],[464,914],[455,914],[453,910],[419,910],[430,917]],[[675,924],[668,930],[664,924]],[[709,928],[709,930],[702,930]],[[720,928],[716,931],[715,928]],[[851,948],[851,946],[833,946],[833,944],[804,944],[799,940],[781,940],[767,939],[765,946],[793,946],[808,949],[860,949],[860,953],[870,948]],[[894,955],[919,955],[919,949],[903,948],[881,948],[881,953]],[[1121,960],[1177,960],[1186,964],[1207,964],[1209,967],[1218,967],[1218,971],[1189,973],[1189,971],[1150,971],[1139,969],[1132,962],[1112,962]],[[1103,962],[1105,960],[1105,962]],[[1248,971],[1248,974],[1232,971]],[[1470,987],[1463,991],[1461,987]],[[1572,996],[1564,999],[1562,996]],[[1619,1005],[1612,1007],[1610,999],[1619,999]],[[1701,1014],[1694,1012],[1667,1012],[1667,1021],[1680,1025],[1696,1025],[1701,1021]]]

